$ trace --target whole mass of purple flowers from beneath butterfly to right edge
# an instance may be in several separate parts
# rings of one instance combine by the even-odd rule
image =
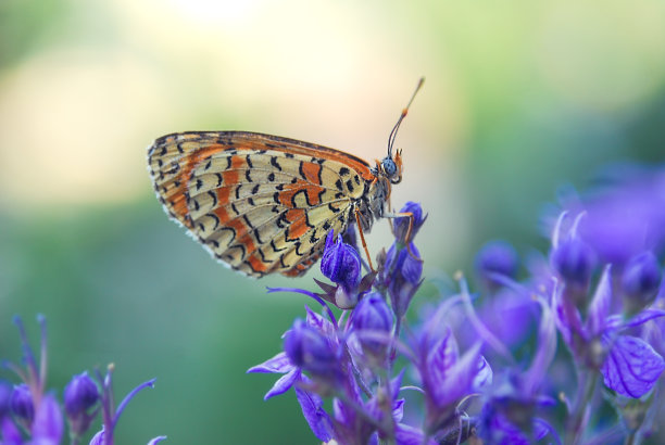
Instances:
[[[416,326],[405,315],[423,282],[421,206],[393,220],[376,272],[331,234],[322,271],[332,284],[271,289],[323,312],[305,307],[284,351],[249,372],[283,374],[265,398],[293,390],[323,442],[665,440],[654,436],[665,418],[665,174],[647,176],[565,205],[547,254],[520,263],[509,243],[488,243],[475,260],[481,292],[457,274],[456,291],[440,283],[442,300],[423,305]],[[622,219],[619,205],[639,215]]]

